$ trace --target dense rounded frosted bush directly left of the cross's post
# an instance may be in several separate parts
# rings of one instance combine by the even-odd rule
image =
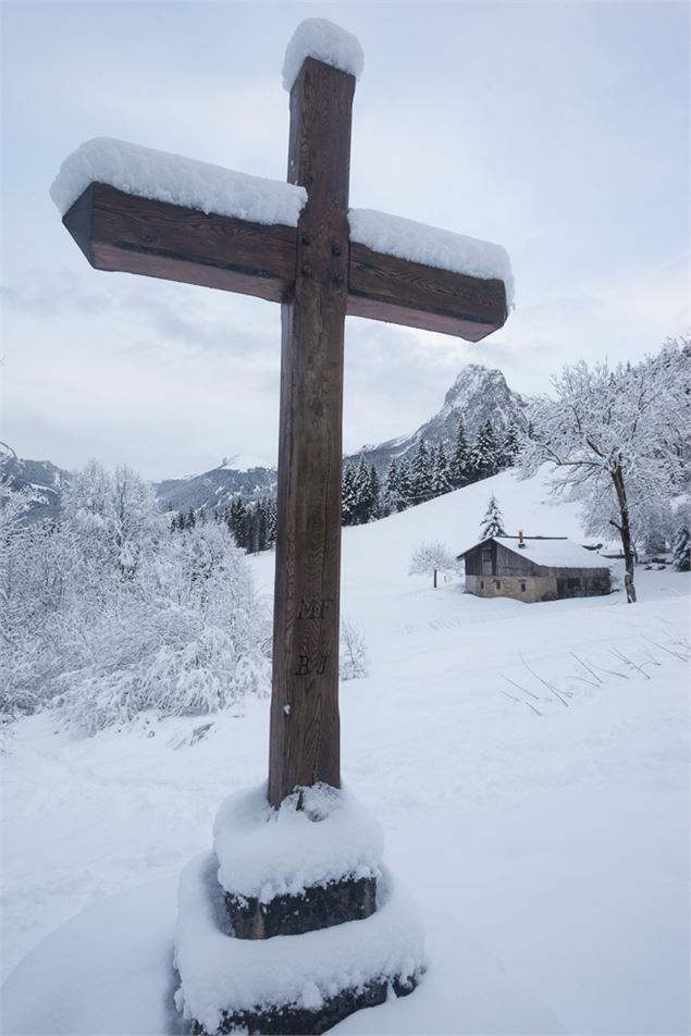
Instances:
[[[121,578],[83,665],[58,681],[66,717],[88,732],[145,710],[198,715],[269,692],[268,618],[227,530],[197,526],[161,545]]]

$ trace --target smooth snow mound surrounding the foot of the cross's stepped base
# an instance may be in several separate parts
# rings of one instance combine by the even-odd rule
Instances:
[[[188,1032],[173,1000],[176,887],[177,878],[166,877],[106,898],[44,939],[2,989],[2,1032],[13,1036]],[[564,1032],[457,917],[437,912],[425,922],[431,966],[415,995],[353,1014],[334,1032],[370,1036]]]

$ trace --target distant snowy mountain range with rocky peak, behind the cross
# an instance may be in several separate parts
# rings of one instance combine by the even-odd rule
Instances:
[[[525,406],[522,397],[509,388],[499,370],[469,363],[446,393],[440,410],[416,431],[384,443],[367,444],[344,459],[357,461],[363,456],[383,474],[392,457],[409,457],[420,439],[428,444],[444,443],[451,449],[456,441],[459,417],[462,417],[467,440],[472,443],[488,419],[502,433],[519,418]],[[67,471],[49,460],[20,459],[11,451],[0,454],[0,461],[4,478],[13,488],[28,485],[32,489],[35,499],[32,518],[57,517],[61,488],[70,479]],[[235,496],[245,499],[274,496],[276,470],[267,467],[238,470],[232,467],[232,462],[224,462],[201,474],[165,479],[155,483],[155,490],[164,509],[210,509],[230,503]]]

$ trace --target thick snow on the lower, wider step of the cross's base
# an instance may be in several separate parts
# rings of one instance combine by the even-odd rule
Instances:
[[[299,936],[236,939],[229,933],[217,867],[214,854],[203,853],[183,871],[175,935],[176,1002],[207,1032],[215,1032],[224,1014],[318,1011],[344,990],[415,980],[422,973],[421,922],[386,871],[377,911],[363,921]]]

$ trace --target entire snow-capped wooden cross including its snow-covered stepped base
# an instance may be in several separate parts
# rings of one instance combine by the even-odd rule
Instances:
[[[506,320],[496,245],[348,208],[357,40],[321,20],[286,52],[288,183],[113,140],[53,184],[89,262],[282,305],[269,779],[232,795],[180,888],[193,1032],[322,1033],[410,992],[422,932],[379,825],[341,789],[338,626],[347,313],[477,342]]]

